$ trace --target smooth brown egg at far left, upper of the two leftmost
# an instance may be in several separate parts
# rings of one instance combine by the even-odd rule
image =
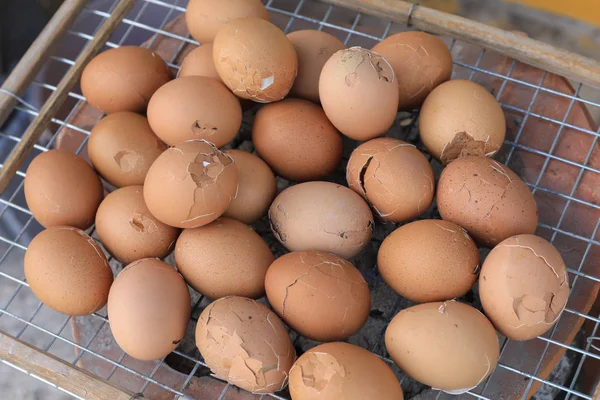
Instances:
[[[102,182],[92,167],[63,150],[35,157],[27,167],[24,187],[27,207],[46,228],[89,228],[104,196]]]

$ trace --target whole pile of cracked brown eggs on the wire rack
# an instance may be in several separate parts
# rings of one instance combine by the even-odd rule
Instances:
[[[108,305],[117,343],[154,360],[182,340],[194,290],[213,300],[195,339],[216,377],[255,393],[289,384],[294,400],[398,400],[390,367],[344,342],[371,308],[351,260],[375,224],[398,223],[378,270],[419,303],[385,332],[410,377],[464,392],[494,370],[497,331],[528,340],[557,321],[566,267],[534,235],[528,186],[493,159],[502,109],[478,84],[450,80],[439,38],[403,32],[371,50],[346,48],[322,31],[285,35],[259,0],[192,0],[186,20],[202,45],[176,79],[139,47],[86,66],[82,92],[107,114],[89,138],[91,166],[61,150],[30,164],[25,196],[46,229],[26,252],[25,275],[44,304],[69,315]],[[256,154],[224,149],[257,103]],[[439,179],[414,145],[383,137],[399,110],[415,108],[420,140],[444,166]],[[347,186],[327,182],[348,143]],[[295,184],[277,193],[276,175]],[[107,195],[102,180],[114,189]],[[419,219],[434,196],[441,219]],[[249,226],[265,216],[289,250],[277,259]],[[85,232],[94,224],[127,264],[114,280]],[[481,267],[478,246],[492,249]],[[162,261],[172,252],[175,266]],[[484,313],[455,300],[477,282]],[[324,343],[298,357],[288,327]]]

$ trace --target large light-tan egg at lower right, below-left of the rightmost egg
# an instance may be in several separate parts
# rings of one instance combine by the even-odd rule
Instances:
[[[450,394],[483,382],[496,367],[498,336],[475,308],[447,301],[400,311],[385,331],[385,347],[411,378]]]

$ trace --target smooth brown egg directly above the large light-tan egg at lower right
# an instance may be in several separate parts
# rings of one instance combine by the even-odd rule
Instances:
[[[425,219],[386,237],[377,267],[385,282],[409,300],[451,300],[465,295],[477,280],[479,252],[460,226]]]

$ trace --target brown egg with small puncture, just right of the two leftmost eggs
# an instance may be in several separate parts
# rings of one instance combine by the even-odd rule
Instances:
[[[142,186],[127,186],[106,196],[96,213],[96,232],[104,247],[124,264],[168,256],[179,235],[179,229],[150,214]]]

